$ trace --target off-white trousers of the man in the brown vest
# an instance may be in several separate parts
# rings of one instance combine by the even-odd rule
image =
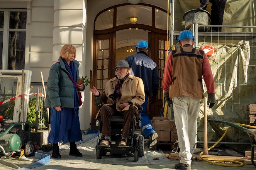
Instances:
[[[180,147],[180,163],[191,164],[197,130],[200,99],[173,97],[173,111]]]

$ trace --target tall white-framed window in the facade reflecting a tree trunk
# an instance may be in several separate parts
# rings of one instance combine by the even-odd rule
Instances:
[[[0,9],[0,69],[25,67],[27,12],[24,9]]]

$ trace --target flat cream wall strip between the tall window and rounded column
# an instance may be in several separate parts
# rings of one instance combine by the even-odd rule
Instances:
[[[53,54],[53,0],[32,1],[26,34],[25,69],[32,71],[32,83],[41,82],[40,72],[47,82]]]

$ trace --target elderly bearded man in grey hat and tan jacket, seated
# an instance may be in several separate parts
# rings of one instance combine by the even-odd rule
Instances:
[[[122,147],[127,145],[134,115],[139,112],[137,106],[145,101],[145,95],[141,78],[129,74],[129,64],[125,60],[120,60],[114,70],[117,75],[106,83],[102,94],[95,87],[90,91],[95,97],[100,97],[102,102],[102,107],[96,115],[96,119],[101,118],[102,136],[105,137],[100,141],[100,145],[111,145],[110,117],[123,115],[122,138],[118,145]]]

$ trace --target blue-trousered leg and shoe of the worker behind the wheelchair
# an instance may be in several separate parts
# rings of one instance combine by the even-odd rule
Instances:
[[[145,94],[145,102],[141,105],[143,110],[141,112],[141,131],[146,138],[149,138],[149,149],[156,150],[157,133],[153,129],[151,120],[146,114],[147,109],[147,95]]]

